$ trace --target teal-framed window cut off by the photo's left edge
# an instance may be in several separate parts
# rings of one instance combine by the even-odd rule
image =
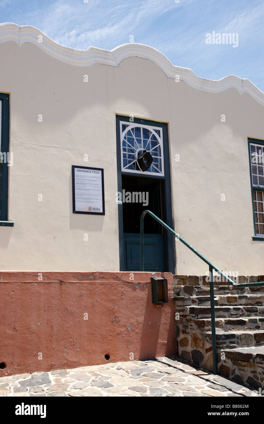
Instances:
[[[0,225],[13,226],[8,222],[9,94],[4,93],[0,93],[0,146]]]

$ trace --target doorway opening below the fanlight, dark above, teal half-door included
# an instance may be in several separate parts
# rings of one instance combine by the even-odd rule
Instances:
[[[164,180],[122,175],[123,233],[125,268],[140,270],[140,217],[149,209],[163,218]],[[127,201],[126,201],[127,200]],[[163,227],[147,215],[144,219],[146,271],[164,271]]]

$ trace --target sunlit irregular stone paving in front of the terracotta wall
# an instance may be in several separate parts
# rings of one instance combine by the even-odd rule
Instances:
[[[257,396],[181,358],[108,363],[0,378],[2,396]]]

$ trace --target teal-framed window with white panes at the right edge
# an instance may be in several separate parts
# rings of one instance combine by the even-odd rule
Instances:
[[[254,240],[264,240],[264,141],[248,139]]]

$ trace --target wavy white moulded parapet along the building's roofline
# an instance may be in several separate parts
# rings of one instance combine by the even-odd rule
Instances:
[[[55,59],[75,66],[89,66],[95,63],[116,66],[129,57],[140,57],[149,59],[157,64],[168,78],[178,78],[190,86],[211,93],[219,93],[228,88],[236,88],[239,94],[248,93],[258,103],[264,105],[264,93],[258,89],[250,80],[228,75],[220,80],[209,80],[200,78],[189,68],[173,65],[166,56],[153,47],[128,43],[113,50],[104,50],[98,47],[88,47],[86,50],[73,49],[63,46],[30,25],[19,26],[14,23],[0,24],[0,43],[15,41],[19,46],[30,42]]]

